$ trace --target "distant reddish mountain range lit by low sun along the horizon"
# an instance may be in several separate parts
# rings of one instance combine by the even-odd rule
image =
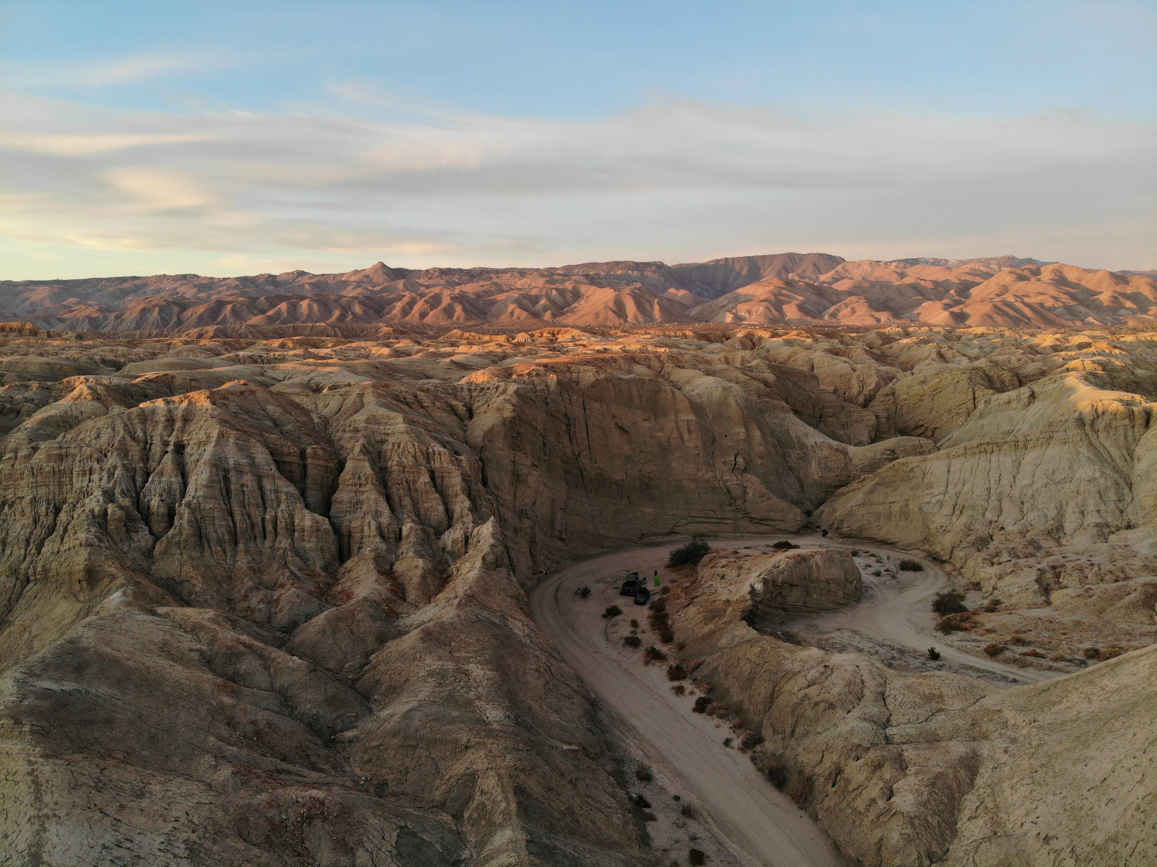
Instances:
[[[707,262],[0,282],[0,320],[76,332],[828,323],[1063,328],[1157,320],[1157,274],[1019,259],[775,253]]]

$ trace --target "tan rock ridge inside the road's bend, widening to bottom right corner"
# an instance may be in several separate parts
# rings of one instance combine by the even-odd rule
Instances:
[[[1157,857],[1157,647],[1005,691],[959,674],[900,674],[756,632],[745,620],[759,575],[743,554],[717,551],[673,586],[676,640],[713,701],[762,738],[757,766],[855,862],[1110,867]]]

